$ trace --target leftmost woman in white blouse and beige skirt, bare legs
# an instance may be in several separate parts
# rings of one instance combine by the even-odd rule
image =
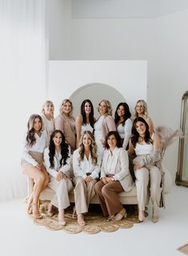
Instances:
[[[28,199],[27,212],[33,212],[34,218],[41,218],[38,199],[42,189],[46,188],[49,181],[48,173],[43,166],[46,132],[42,131],[42,117],[37,114],[31,115],[27,128],[21,165],[23,173],[34,180],[34,188]]]

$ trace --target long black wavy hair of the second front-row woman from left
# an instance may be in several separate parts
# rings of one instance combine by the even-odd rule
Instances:
[[[52,134],[50,136],[50,145],[49,145],[50,168],[54,168],[55,145],[54,145],[53,139],[57,133],[60,133],[62,136],[62,143],[60,144],[61,155],[62,155],[62,158],[59,161],[60,167],[62,167],[62,165],[66,165],[66,159],[68,157],[70,157],[69,156],[69,145],[66,144],[66,138],[65,138],[64,134],[60,130],[54,130],[54,132],[52,132]]]

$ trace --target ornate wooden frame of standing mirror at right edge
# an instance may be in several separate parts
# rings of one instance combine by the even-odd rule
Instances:
[[[180,120],[180,128],[182,129],[183,134],[185,135],[185,128],[186,128],[186,116],[188,112],[186,112],[188,104],[188,91],[182,95],[182,109],[181,109],[181,120]],[[188,117],[187,117],[188,118]],[[178,172],[176,173],[175,183],[176,185],[183,185],[188,187],[188,181],[182,180],[182,173],[183,173],[183,158],[186,157],[184,155],[184,141],[185,138],[179,139],[179,148],[178,148]],[[188,172],[188,166],[187,166]]]

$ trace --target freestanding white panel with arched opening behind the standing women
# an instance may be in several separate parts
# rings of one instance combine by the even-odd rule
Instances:
[[[113,109],[126,101],[133,111],[138,99],[146,100],[146,83],[146,60],[50,61],[47,94],[54,102],[55,115],[66,98],[73,101],[74,115],[85,99],[92,101],[95,110],[98,102],[106,99]]]

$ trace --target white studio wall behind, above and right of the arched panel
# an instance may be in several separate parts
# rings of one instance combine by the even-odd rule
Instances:
[[[166,0],[159,4],[159,15],[178,10],[177,1]],[[186,8],[186,2],[181,1],[180,6]],[[55,15],[51,13],[52,20]],[[159,18],[70,17],[69,22],[70,38],[66,40],[70,44],[66,54],[56,45],[50,47],[50,59],[146,59],[150,116],[155,125],[179,128],[181,97],[188,84],[188,10]],[[54,38],[50,38],[51,43],[61,40],[61,22],[56,31]],[[165,156],[165,165],[173,178],[177,161],[178,141],[170,146]]]

